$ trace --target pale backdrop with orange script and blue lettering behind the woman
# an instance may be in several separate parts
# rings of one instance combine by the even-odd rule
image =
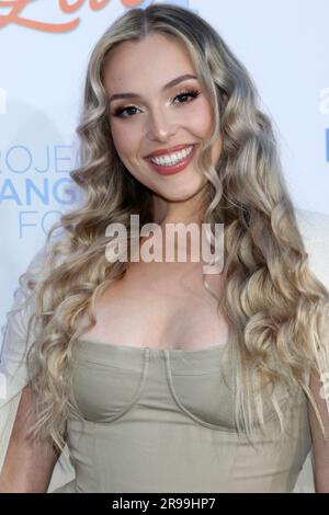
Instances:
[[[191,9],[222,34],[273,119],[295,205],[329,214],[328,0],[0,1],[2,332],[18,277],[79,202],[69,171],[91,49],[118,15],[151,3]]]

